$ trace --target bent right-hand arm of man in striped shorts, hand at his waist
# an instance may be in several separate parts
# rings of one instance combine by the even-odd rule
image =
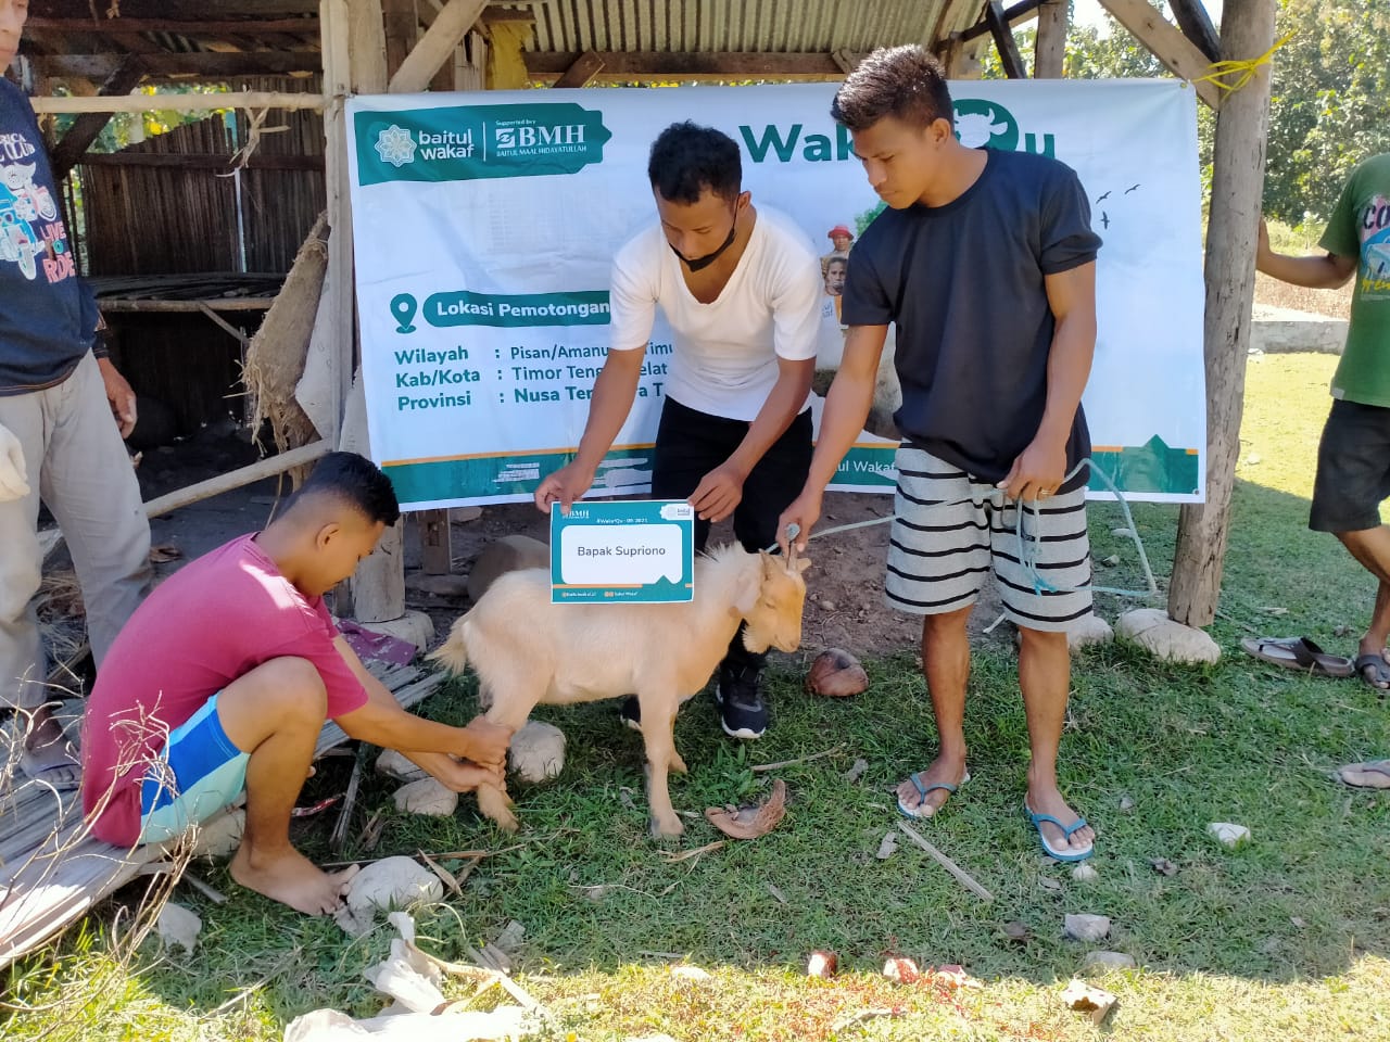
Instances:
[[[1042,422],[999,488],[1012,499],[1052,495],[1066,478],[1066,442],[1095,356],[1095,261],[1042,276],[1055,322]]]

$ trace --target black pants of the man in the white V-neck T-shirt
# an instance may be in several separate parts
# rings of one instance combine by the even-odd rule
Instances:
[[[748,436],[746,420],[710,415],[666,399],[656,429],[652,461],[652,496],[688,499],[701,479],[728,460]],[[763,453],[744,482],[744,497],[734,508],[734,535],[749,553],[777,542],[777,518],[801,495],[810,471],[810,410],[808,408]],[[695,550],[709,540],[709,521],[695,520]],[[726,667],[762,670],[766,654],[744,647],[739,627],[728,645]]]

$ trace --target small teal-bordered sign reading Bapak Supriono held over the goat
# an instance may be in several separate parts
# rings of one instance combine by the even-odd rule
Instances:
[[[645,603],[695,595],[695,511],[685,500],[550,507],[550,603]]]

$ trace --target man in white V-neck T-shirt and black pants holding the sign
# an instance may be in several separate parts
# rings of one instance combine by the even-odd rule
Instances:
[[[549,475],[537,506],[563,510],[594,483],[627,421],[660,306],[676,333],[656,433],[652,495],[688,499],[695,546],[733,514],[748,550],[777,542],[777,518],[810,465],[810,378],[820,328],[820,260],[790,218],[742,190],[738,146],[719,131],[673,124],[648,163],[660,221],[613,261],[607,360],[573,463]],[[720,664],[720,724],[734,738],[767,728],[764,656],[734,636]],[[637,722],[637,699],[623,706]]]

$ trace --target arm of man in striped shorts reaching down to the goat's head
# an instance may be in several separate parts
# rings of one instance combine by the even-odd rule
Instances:
[[[777,518],[777,543],[785,553],[787,527],[798,525],[796,549],[806,549],[812,525],[820,518],[820,502],[826,485],[835,477],[840,461],[863,431],[873,392],[878,379],[878,358],[888,339],[887,325],[852,325],[845,338],[845,353],[840,371],[826,393],[826,408],[820,414],[820,436],[810,457],[810,470],[801,495]]]

